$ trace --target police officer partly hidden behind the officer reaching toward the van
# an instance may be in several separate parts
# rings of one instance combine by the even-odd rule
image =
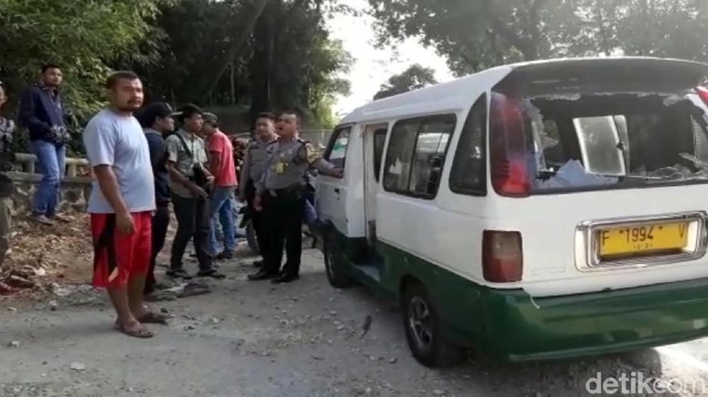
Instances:
[[[253,208],[253,199],[256,196],[256,183],[263,176],[263,167],[267,160],[266,146],[278,139],[275,134],[275,116],[270,112],[263,112],[256,118],[255,136],[246,146],[243,156],[243,169],[241,170],[241,185],[239,186],[239,200],[248,204],[253,230],[256,232],[258,247],[261,253],[267,236],[263,233],[262,213]],[[262,261],[256,261],[254,266],[262,266]]]

